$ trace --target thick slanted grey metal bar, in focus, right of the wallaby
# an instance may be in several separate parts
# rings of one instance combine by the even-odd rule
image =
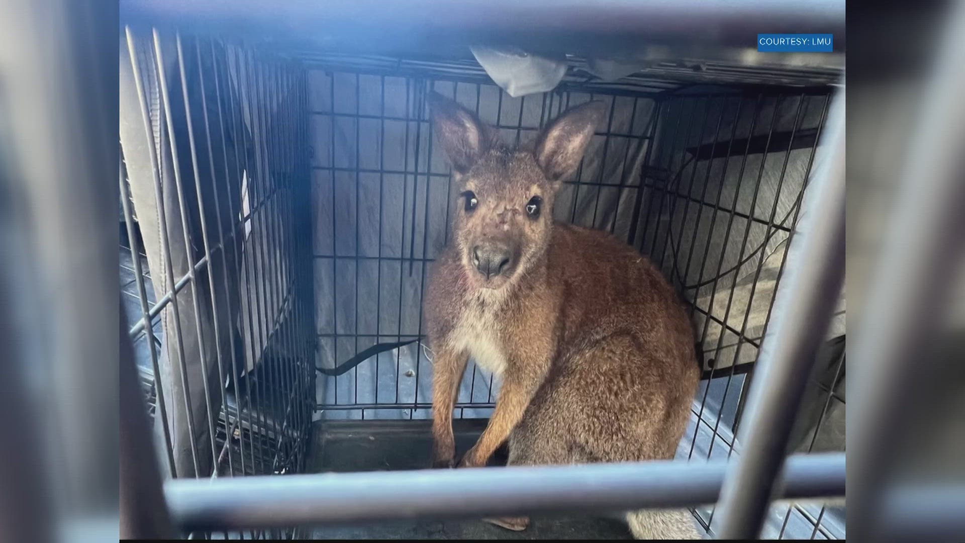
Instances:
[[[789,254],[786,288],[758,357],[737,442],[740,459],[721,491],[723,539],[756,539],[773,499],[794,417],[844,275],[844,91],[829,115],[824,167],[811,183],[810,231]],[[796,262],[793,262],[795,261]],[[781,296],[783,295],[783,296]]]

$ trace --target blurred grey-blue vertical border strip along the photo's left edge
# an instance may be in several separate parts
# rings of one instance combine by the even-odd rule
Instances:
[[[9,317],[14,341],[0,355],[0,409],[11,418],[0,440],[4,541],[118,536],[117,15],[108,4],[0,2],[0,176],[9,176],[4,205],[16,207],[0,212],[0,275],[21,287],[0,294],[0,327]]]

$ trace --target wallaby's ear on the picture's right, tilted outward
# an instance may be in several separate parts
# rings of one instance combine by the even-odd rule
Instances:
[[[539,134],[534,153],[550,181],[560,181],[580,165],[605,111],[606,104],[602,101],[582,103],[566,111]]]

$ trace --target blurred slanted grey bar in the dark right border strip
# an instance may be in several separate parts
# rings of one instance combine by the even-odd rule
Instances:
[[[854,489],[848,529],[855,539],[893,535],[870,531],[886,529],[875,526],[889,518],[881,500],[898,492],[887,492],[888,472],[902,454],[896,441],[907,436],[911,424],[931,423],[908,420],[909,406],[922,406],[922,398],[934,392],[926,381],[961,383],[958,364],[935,368],[937,360],[928,351],[953,300],[949,287],[965,228],[965,6],[957,3],[950,15],[941,57],[924,86],[929,92],[921,97],[921,124],[908,138],[911,153],[895,198],[899,208],[889,220],[864,322],[850,354],[854,367],[865,374],[855,381],[858,401],[852,402],[855,409],[847,419],[848,446],[860,459],[848,473]],[[959,523],[963,511],[958,510]],[[923,521],[927,526],[927,518]]]

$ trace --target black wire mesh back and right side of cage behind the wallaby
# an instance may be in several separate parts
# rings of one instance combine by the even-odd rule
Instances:
[[[430,416],[422,298],[451,235],[455,194],[448,162],[433,148],[427,92],[476,111],[507,142],[530,140],[568,107],[603,100],[605,123],[561,189],[555,217],[611,232],[666,274],[687,303],[704,368],[678,456],[739,454],[733,436],[753,362],[788,243],[806,223],[801,201],[820,158],[828,88],[652,93],[567,80],[552,93],[514,99],[484,76],[430,63],[319,62],[309,71],[316,361],[326,374],[319,416]],[[831,337],[843,334],[842,314]],[[379,345],[391,349],[378,353]],[[829,345],[831,361],[815,374],[813,409],[805,410],[812,416],[798,432],[802,451],[814,443],[843,450],[843,419],[832,415],[842,413],[834,407],[843,358]],[[457,416],[487,416],[498,385],[469,364]],[[697,513],[714,526],[712,510]],[[777,505],[765,534],[842,537],[840,513]]]

